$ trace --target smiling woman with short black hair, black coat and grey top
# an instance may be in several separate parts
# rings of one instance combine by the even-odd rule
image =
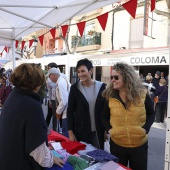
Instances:
[[[76,66],[80,81],[71,86],[67,120],[71,141],[84,141],[97,148],[104,148],[104,127],[101,122],[104,98],[101,92],[106,84],[91,78],[92,62],[82,59]]]

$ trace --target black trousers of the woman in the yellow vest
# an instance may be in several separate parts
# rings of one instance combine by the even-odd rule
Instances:
[[[147,170],[148,142],[135,148],[126,148],[110,139],[110,152],[119,158],[119,163],[133,170]]]

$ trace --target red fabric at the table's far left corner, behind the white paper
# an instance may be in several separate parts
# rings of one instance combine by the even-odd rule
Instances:
[[[48,141],[50,140],[53,140],[53,141],[56,141],[56,142],[62,142],[62,141],[65,141],[65,142],[68,142],[70,141],[67,137],[61,135],[60,133],[57,133],[53,130],[50,131],[50,134],[48,135]]]

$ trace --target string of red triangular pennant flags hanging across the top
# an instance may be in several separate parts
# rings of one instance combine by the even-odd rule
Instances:
[[[151,7],[151,12],[155,9],[155,0],[150,0],[150,7]],[[137,9],[137,0],[130,0],[124,4],[122,4],[122,6],[124,7],[124,9],[133,17],[135,18],[136,15],[136,9]],[[108,13],[106,12],[98,17],[97,20],[100,23],[100,26],[102,27],[102,30],[105,31],[106,28],[106,24],[107,24],[107,19],[108,19]],[[78,31],[80,36],[82,37],[84,29],[85,29],[85,25],[86,25],[86,21],[83,22],[79,22],[76,24],[78,27]],[[62,36],[65,38],[66,37],[66,33],[68,30],[69,25],[62,25],[61,26],[61,30],[62,30]],[[55,34],[56,34],[56,28],[52,28],[49,30],[49,32],[51,33],[52,37],[55,39]],[[46,33],[45,33],[46,34]],[[43,40],[44,40],[44,35],[40,35],[38,38],[41,46],[43,46]],[[34,42],[34,39],[29,40],[29,48],[32,46]],[[21,41],[21,50],[23,50],[24,46],[25,46],[26,41]],[[19,44],[19,40],[15,40],[15,48],[18,48],[18,44]],[[9,48],[5,47],[3,49],[3,51],[6,51],[8,53]],[[2,56],[3,51],[0,53],[0,56]]]

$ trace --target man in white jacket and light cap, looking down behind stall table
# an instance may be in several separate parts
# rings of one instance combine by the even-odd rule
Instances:
[[[58,68],[51,68],[48,71],[50,80],[56,83],[56,99],[58,103],[56,116],[58,119],[62,118],[62,134],[68,137],[66,112],[71,84],[66,78],[60,76],[60,74]]]

